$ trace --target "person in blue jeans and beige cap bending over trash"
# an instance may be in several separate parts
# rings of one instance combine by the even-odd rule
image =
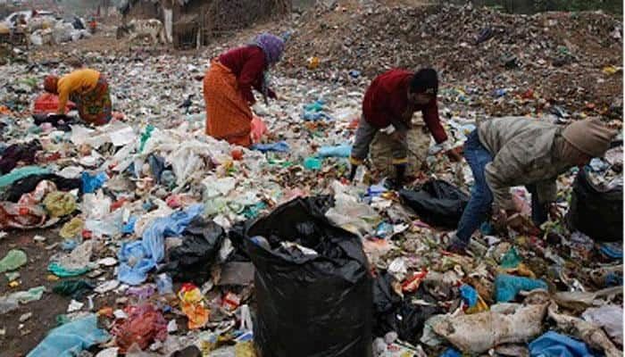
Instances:
[[[524,185],[531,194],[531,216],[539,227],[556,214],[556,179],[574,166],[602,156],[617,133],[598,119],[579,120],[562,127],[525,117],[487,120],[464,143],[464,158],[475,185],[458,229],[447,250],[464,253],[471,235],[487,219],[491,205],[496,221],[504,222],[519,209],[510,187]]]

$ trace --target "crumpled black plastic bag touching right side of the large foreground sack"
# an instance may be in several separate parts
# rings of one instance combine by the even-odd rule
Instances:
[[[438,307],[437,299],[426,293],[422,286],[402,299],[394,292],[392,283],[393,278],[384,273],[373,285],[373,332],[376,336],[384,336],[395,331],[401,340],[417,344],[425,321],[444,311]]]

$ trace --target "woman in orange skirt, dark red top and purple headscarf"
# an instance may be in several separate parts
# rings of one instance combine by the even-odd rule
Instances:
[[[206,135],[230,144],[252,145],[250,105],[256,102],[252,87],[262,94],[265,103],[267,97],[276,99],[269,88],[267,71],[279,62],[283,52],[282,38],[263,33],[252,44],[212,60],[204,76]]]

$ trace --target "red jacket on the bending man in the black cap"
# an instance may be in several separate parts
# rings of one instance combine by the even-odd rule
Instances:
[[[390,70],[373,79],[362,100],[364,119],[380,129],[391,125],[391,119],[406,121],[403,116],[408,107],[408,87],[412,75],[410,71]],[[423,113],[423,120],[437,144],[446,141],[447,134],[438,118],[437,99],[432,99],[429,104],[417,105],[415,109]]]

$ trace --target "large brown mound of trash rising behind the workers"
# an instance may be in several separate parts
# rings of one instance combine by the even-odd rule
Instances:
[[[622,21],[602,12],[346,0],[318,2],[288,25],[289,77],[351,83],[431,66],[452,111],[622,115]]]

